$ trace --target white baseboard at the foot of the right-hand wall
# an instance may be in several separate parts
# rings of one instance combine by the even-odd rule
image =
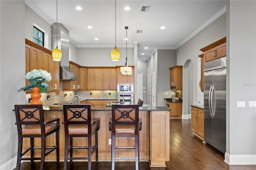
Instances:
[[[225,153],[224,161],[230,165],[256,165],[256,155],[230,155]]]

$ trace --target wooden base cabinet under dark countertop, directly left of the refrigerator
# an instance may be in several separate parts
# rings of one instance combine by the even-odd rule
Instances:
[[[194,134],[204,140],[204,110],[191,107],[191,129]]]

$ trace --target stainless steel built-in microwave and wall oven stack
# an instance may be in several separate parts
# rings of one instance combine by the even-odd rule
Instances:
[[[133,84],[117,84],[117,101],[133,102]]]

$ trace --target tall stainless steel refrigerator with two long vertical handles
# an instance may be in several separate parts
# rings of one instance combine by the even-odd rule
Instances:
[[[204,141],[226,152],[226,57],[204,63]]]

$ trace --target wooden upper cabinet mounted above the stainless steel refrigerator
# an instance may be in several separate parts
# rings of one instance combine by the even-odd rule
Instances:
[[[226,56],[226,37],[200,49],[204,52],[204,62]]]

